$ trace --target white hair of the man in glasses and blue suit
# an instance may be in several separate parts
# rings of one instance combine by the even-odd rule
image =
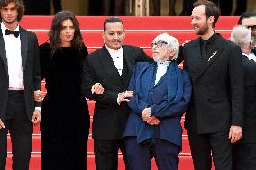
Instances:
[[[179,43],[178,40],[169,35],[168,33],[162,33],[160,35],[158,35],[153,41],[165,41],[167,42],[168,46],[169,46],[169,50],[171,49],[175,49],[176,53],[175,55],[172,57],[172,60],[175,60],[178,58],[178,52],[179,52]]]

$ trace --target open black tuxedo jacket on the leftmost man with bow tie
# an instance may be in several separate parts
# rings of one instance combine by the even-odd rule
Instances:
[[[39,64],[38,40],[36,35],[20,26],[21,53],[23,66],[24,100],[28,119],[32,118],[34,107],[33,93],[40,89],[41,73]],[[14,49],[15,50],[15,49]],[[0,28],[0,119],[5,120],[8,100],[8,66],[5,52],[5,41]]]

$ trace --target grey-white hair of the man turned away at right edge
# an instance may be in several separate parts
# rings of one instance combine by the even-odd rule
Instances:
[[[242,25],[237,25],[233,27],[230,40],[236,43],[239,47],[245,48],[251,42],[251,31]]]

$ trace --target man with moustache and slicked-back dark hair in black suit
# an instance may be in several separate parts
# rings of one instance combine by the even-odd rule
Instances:
[[[139,61],[152,61],[141,48],[123,45],[123,22],[104,22],[105,44],[85,59],[82,92],[96,101],[93,139],[97,170],[117,170],[118,149],[125,152],[123,130],[129,116],[127,105],[133,91],[126,91],[133,67]]]

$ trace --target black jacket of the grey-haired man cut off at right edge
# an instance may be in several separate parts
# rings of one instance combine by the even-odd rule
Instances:
[[[244,127],[242,143],[256,143],[256,62],[242,55],[244,71]]]

